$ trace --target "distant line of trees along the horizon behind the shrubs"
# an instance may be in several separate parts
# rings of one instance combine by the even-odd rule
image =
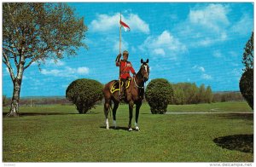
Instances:
[[[195,83],[172,83],[173,98],[170,104],[183,105],[183,104],[198,104],[198,103],[211,103],[211,102],[225,102],[225,101],[244,101],[242,95],[238,91],[226,92],[212,92],[210,86],[205,87],[201,84],[197,87]],[[103,101],[103,100],[102,100]],[[99,101],[98,104],[102,104]],[[3,107],[9,106],[10,98],[3,95]],[[56,97],[21,97],[20,106],[26,107],[39,107],[42,105],[72,105],[67,101],[65,96]]]

